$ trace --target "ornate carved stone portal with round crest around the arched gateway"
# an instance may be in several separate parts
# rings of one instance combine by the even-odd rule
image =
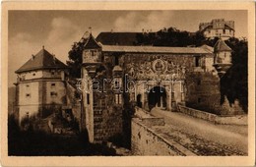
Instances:
[[[126,58],[126,55],[124,56]],[[127,77],[134,82],[135,87],[132,91],[129,89],[130,99],[137,101],[137,104],[141,103],[147,110],[155,106],[166,110],[175,109],[177,102],[184,101],[186,67],[174,64],[171,60],[164,60],[165,55],[143,55],[140,58],[144,57],[147,59],[144,63],[134,61],[126,66]],[[153,91],[155,87],[160,87],[160,90],[157,88],[158,90]],[[158,105],[150,102],[155,96],[159,97],[156,101]]]

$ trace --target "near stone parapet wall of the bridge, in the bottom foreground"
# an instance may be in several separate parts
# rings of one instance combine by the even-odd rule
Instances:
[[[132,119],[131,150],[134,155],[195,155],[179,143],[165,139],[154,127],[165,128],[163,118],[154,117],[149,112],[135,107]]]

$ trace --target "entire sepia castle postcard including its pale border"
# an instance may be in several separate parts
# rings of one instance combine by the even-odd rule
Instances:
[[[2,11],[6,157],[254,157],[254,3],[26,4]]]

